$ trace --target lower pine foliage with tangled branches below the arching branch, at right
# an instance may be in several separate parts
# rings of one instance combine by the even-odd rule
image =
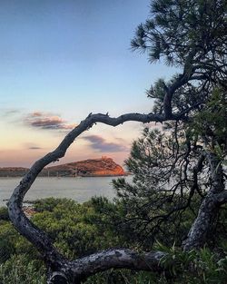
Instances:
[[[156,239],[166,244],[178,240],[177,245],[183,241],[186,250],[201,248],[206,242],[212,244],[214,237],[218,239],[214,232],[225,200],[210,197],[214,208],[209,218],[209,207],[204,204],[209,191],[214,190],[214,179],[219,182],[217,193],[225,194],[222,166],[226,164],[226,117],[226,98],[216,90],[201,113],[194,114],[192,122],[165,122],[162,131],[145,128],[143,136],[133,142],[125,162],[133,173],[133,183],[114,181],[126,211],[121,227],[129,231],[131,238],[134,236],[144,247]],[[192,230],[185,240],[192,226],[190,220],[198,214],[202,201],[202,216],[199,214],[196,221],[205,218],[201,222],[207,227],[202,230],[198,226],[197,242],[190,245]]]

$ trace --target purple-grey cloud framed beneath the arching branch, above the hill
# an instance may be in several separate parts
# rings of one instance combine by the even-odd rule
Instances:
[[[91,143],[94,150],[99,152],[125,152],[128,151],[128,147],[114,142],[106,142],[106,140],[99,135],[85,136],[84,140]]]

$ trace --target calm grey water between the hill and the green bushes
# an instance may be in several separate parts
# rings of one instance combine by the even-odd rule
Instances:
[[[112,186],[113,177],[91,178],[37,178],[31,189],[25,195],[25,200],[34,201],[39,198],[56,197],[70,198],[74,201],[88,201],[92,196],[114,198]],[[127,181],[132,176],[126,177]],[[0,178],[0,206],[5,205],[21,178]]]

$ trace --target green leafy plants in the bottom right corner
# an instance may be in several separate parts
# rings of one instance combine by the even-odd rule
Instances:
[[[221,256],[214,254],[206,247],[201,250],[183,251],[175,246],[168,248],[157,243],[156,248],[167,252],[161,263],[169,269],[170,276],[176,284],[224,284],[226,282],[227,251],[224,251],[225,255]]]

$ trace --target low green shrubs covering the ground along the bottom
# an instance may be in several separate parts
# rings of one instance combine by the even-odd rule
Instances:
[[[111,202],[105,198],[93,198],[84,204],[66,199],[46,199],[35,201],[36,213],[32,216],[35,225],[45,230],[56,246],[69,259],[74,260],[84,254],[109,247],[126,246],[141,250],[138,246],[140,238],[129,238],[134,230],[122,230],[119,227],[126,211],[124,204]],[[3,211],[3,208],[1,208]],[[190,210],[187,210],[188,212]],[[185,212],[186,213],[186,212]],[[222,212],[222,220],[226,211]],[[188,216],[191,216],[189,213]],[[192,223],[193,217],[187,221]],[[173,226],[169,224],[169,230]],[[171,228],[172,227],[172,228]],[[180,224],[179,230],[183,230]],[[227,258],[226,235],[222,231],[215,246],[215,252],[203,248],[185,252],[170,241],[168,245],[154,241],[153,249],[168,252],[161,261],[167,268],[162,275],[153,272],[132,272],[130,270],[114,270],[99,273],[85,283],[91,284],[147,284],[147,283],[226,283]],[[181,237],[179,237],[180,239]],[[42,255],[21,237],[9,220],[0,220],[0,283],[32,283],[46,282],[45,267]],[[175,241],[179,242],[178,237]],[[152,244],[146,243],[146,250],[152,250]]]

